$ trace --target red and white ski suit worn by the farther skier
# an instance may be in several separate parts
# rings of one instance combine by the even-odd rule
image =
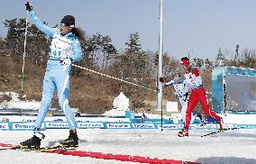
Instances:
[[[203,87],[202,77],[199,74],[198,68],[191,68],[185,74],[186,81],[191,88],[191,94],[187,103],[187,114],[186,114],[186,125],[185,128],[188,130],[189,123],[191,120],[191,113],[197,102],[199,101],[202,105],[206,115],[214,117],[218,122],[220,122],[221,117],[211,111],[206,99],[206,89]]]

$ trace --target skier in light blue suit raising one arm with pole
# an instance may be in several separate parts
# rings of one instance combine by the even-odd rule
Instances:
[[[84,32],[75,27],[75,18],[66,15],[60,22],[59,28],[50,28],[42,23],[32,9],[32,5],[26,4],[32,22],[51,39],[50,55],[47,62],[45,76],[43,78],[43,91],[41,107],[34,124],[33,136],[20,143],[22,147],[39,148],[44,134],[40,132],[41,123],[50,109],[51,99],[58,90],[59,106],[66,115],[69,123],[69,138],[61,141],[63,146],[78,146],[77,124],[75,116],[69,106],[69,83],[71,63],[82,59],[82,49],[79,40],[84,40]]]

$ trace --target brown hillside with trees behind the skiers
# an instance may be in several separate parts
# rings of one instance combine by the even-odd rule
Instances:
[[[20,93],[25,20],[18,18],[5,20],[5,27],[8,30],[7,34],[5,38],[0,38],[0,91]],[[124,49],[117,51],[111,36],[100,33],[87,35],[87,40],[81,41],[84,59],[76,64],[143,87],[156,89],[158,52],[142,50],[140,40],[139,33],[133,32],[127,36]],[[50,38],[39,32],[34,24],[29,24],[24,65],[24,92],[21,93],[21,97],[26,95],[26,99],[41,100],[42,79],[49,50]],[[256,68],[255,54],[255,50],[229,52],[220,48],[215,61],[199,58],[191,60],[200,68],[206,90],[211,91],[211,70],[220,60],[226,66]],[[181,71],[178,60],[164,53],[163,74],[168,80],[176,72]],[[146,105],[150,109],[155,107],[156,93],[151,90],[80,68],[72,70],[70,105],[78,108],[82,113],[103,114],[112,108],[114,97],[120,92],[130,98],[131,108],[140,105]],[[163,98],[165,101],[178,100],[171,87],[164,89]],[[59,108],[57,96],[54,97],[52,107]]]

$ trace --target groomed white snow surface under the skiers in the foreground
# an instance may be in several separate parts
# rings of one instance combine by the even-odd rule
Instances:
[[[67,129],[42,131],[41,146],[57,145],[68,137]],[[212,130],[190,130],[189,137],[178,138],[176,130],[78,129],[78,150],[175,159],[206,164],[256,164],[256,130],[241,129],[200,137]],[[30,131],[1,131],[0,143],[18,144],[32,137]],[[135,163],[114,159],[93,159],[69,155],[0,150],[0,163]]]

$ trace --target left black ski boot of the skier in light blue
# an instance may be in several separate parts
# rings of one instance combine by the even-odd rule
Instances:
[[[41,137],[41,138],[40,138]],[[23,141],[20,143],[20,148],[22,149],[39,149],[41,145],[41,139],[44,139],[45,135],[41,132],[37,135],[33,135],[31,139]]]

